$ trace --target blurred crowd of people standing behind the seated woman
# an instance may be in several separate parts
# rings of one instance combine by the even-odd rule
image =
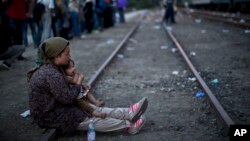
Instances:
[[[26,60],[28,31],[36,48],[50,37],[81,38],[124,23],[127,6],[127,0],[0,0],[2,66],[10,69],[14,60]]]

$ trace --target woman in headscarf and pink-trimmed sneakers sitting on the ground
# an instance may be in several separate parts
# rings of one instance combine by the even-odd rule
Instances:
[[[107,117],[88,117],[76,104],[82,85],[69,84],[62,65],[70,62],[69,41],[61,37],[46,39],[39,46],[39,66],[28,72],[29,106],[34,121],[42,128],[55,128],[59,133],[87,130],[91,119],[97,132],[126,129],[136,134],[145,123],[142,115],[147,99],[142,98],[129,108],[96,107]]]

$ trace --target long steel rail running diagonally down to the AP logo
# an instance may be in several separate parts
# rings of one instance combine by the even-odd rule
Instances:
[[[214,94],[212,93],[212,91],[210,90],[210,88],[207,86],[206,82],[199,75],[197,69],[194,67],[194,65],[192,64],[192,62],[188,58],[187,54],[185,53],[185,51],[183,50],[182,46],[177,41],[177,39],[175,38],[175,36],[173,35],[172,31],[168,30],[167,26],[165,24],[164,24],[164,29],[168,33],[168,35],[171,37],[171,39],[173,40],[173,42],[175,43],[176,47],[179,49],[179,51],[180,51],[182,57],[184,58],[185,62],[187,63],[187,65],[191,69],[192,73],[195,75],[195,77],[198,80],[199,84],[201,85],[201,87],[203,88],[203,90],[205,91],[205,93],[207,94],[207,96],[209,97],[210,102],[212,103],[212,105],[216,109],[216,112],[222,118],[222,120],[224,121],[224,123],[227,125],[228,128],[230,127],[230,125],[234,125],[235,124],[234,121],[229,117],[229,115],[224,110],[224,108],[222,107],[222,105],[220,104],[220,102],[217,100],[217,98],[214,96]]]

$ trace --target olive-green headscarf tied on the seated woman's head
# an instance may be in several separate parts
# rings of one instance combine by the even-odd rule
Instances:
[[[28,72],[28,79],[43,64],[51,64],[51,59],[60,55],[69,45],[69,41],[61,37],[52,37],[44,40],[38,49],[36,67]]]

